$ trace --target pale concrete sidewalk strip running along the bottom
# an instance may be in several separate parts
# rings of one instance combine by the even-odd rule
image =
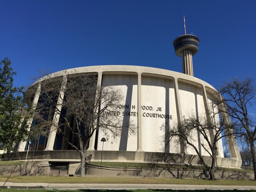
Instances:
[[[3,186],[4,182],[0,182]],[[176,189],[176,190],[256,190],[256,186],[234,185],[173,185],[173,184],[95,184],[95,183],[13,183],[6,182],[9,188],[45,188],[45,189]]]

